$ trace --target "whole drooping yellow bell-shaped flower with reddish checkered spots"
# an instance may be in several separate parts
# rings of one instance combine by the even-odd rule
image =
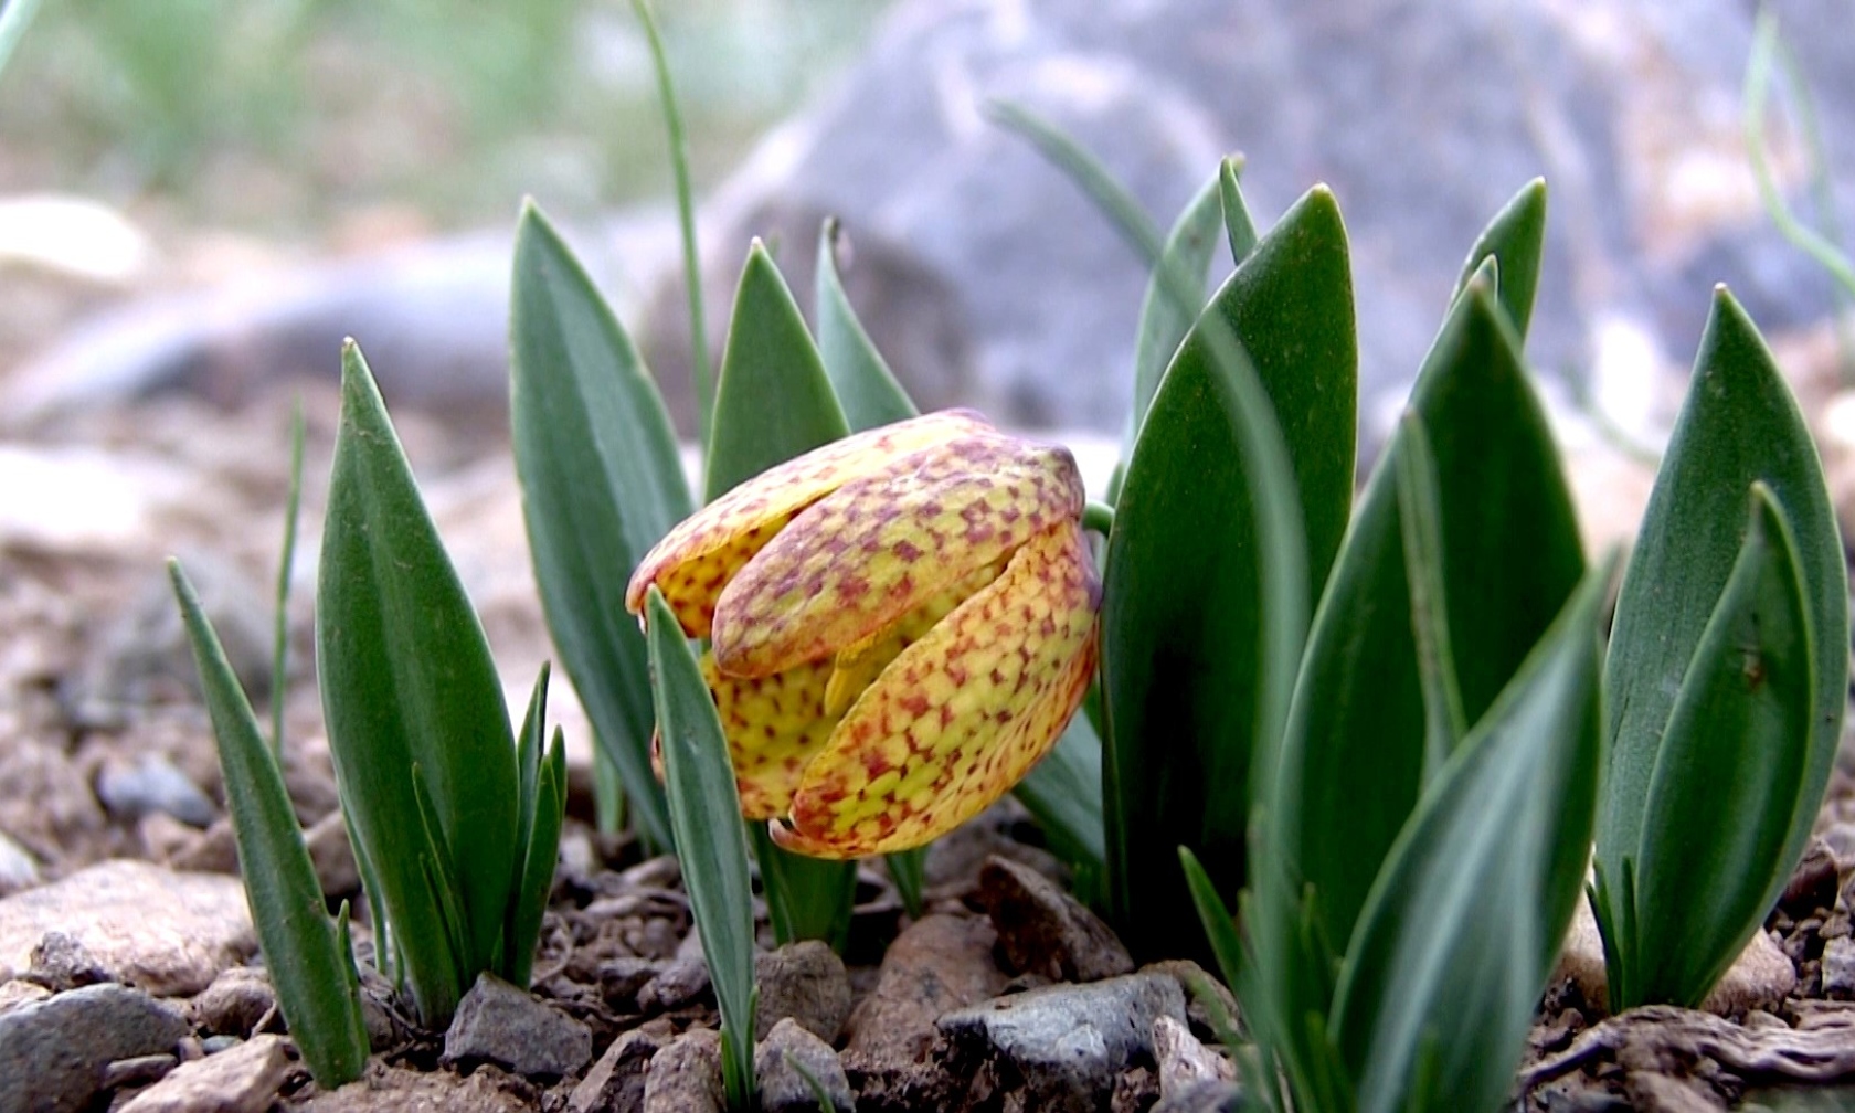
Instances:
[[[1100,607],[1067,449],[965,410],[850,436],[677,525],[655,582],[692,638],[742,814],[816,857],[920,846],[1004,796],[1094,673]]]

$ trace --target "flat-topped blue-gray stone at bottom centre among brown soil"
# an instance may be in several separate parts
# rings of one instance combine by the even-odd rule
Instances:
[[[994,1061],[1022,1078],[1039,1109],[1096,1109],[1115,1076],[1152,1057],[1154,1020],[1183,1024],[1185,994],[1165,974],[1126,974],[1089,985],[1050,985],[939,1020],[955,1052]],[[1009,1085],[1009,1081],[1007,1081]]]

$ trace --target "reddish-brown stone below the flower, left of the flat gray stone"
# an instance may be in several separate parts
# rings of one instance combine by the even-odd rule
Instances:
[[[992,961],[996,942],[991,920],[935,913],[909,924],[883,953],[876,991],[850,1015],[846,1063],[881,1072],[926,1059],[942,1013],[1005,987]]]

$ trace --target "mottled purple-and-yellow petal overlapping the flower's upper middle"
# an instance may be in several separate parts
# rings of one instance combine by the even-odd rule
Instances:
[[[976,434],[863,475],[798,514],[722,590],[723,672],[768,675],[876,636],[1031,536],[1081,516],[1068,449]]]

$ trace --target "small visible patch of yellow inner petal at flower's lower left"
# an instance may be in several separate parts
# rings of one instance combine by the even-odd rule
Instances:
[[[811,759],[824,749],[838,716],[825,714],[831,662],[801,664],[770,677],[731,677],[701,655],[701,675],[714,694],[735,762],[740,814],[768,820],[787,814]]]

